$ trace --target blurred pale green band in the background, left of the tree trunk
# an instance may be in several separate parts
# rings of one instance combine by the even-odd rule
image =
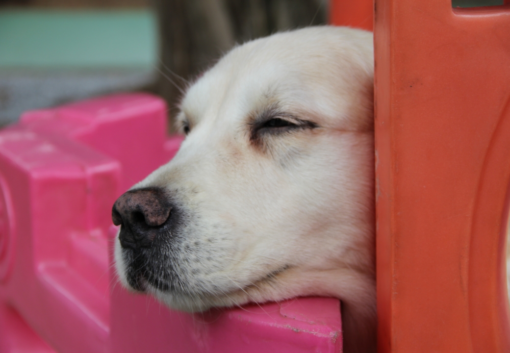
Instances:
[[[150,10],[3,10],[0,69],[153,68],[157,38]]]

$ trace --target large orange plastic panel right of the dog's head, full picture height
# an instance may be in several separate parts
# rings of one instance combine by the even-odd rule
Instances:
[[[377,0],[375,67],[379,352],[510,352],[510,6]]]

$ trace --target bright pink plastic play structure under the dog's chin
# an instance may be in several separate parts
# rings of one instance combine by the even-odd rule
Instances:
[[[0,352],[340,352],[331,298],[169,311],[116,284],[115,199],[168,162],[146,94],[23,114],[0,131]]]

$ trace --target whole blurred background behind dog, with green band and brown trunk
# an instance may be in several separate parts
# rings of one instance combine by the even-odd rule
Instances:
[[[161,95],[172,115],[177,87],[236,43],[327,17],[327,0],[0,0],[0,126],[133,90]]]

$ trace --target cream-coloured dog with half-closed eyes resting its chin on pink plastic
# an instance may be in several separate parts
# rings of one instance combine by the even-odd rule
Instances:
[[[122,284],[189,312],[342,300],[375,351],[372,33],[310,27],[232,49],[187,88],[186,135],[112,210]]]

